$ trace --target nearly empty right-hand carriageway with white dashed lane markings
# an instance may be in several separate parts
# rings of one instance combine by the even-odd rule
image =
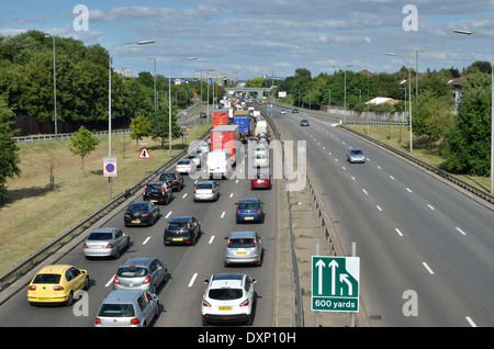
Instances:
[[[370,326],[494,326],[493,206],[335,127],[336,119],[279,110],[288,137],[306,140],[345,255],[357,244]],[[363,149],[366,164],[350,165],[349,147]]]

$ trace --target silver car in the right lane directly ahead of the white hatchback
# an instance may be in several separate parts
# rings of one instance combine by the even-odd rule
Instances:
[[[233,232],[225,246],[223,263],[255,263],[260,266],[263,258],[262,237],[256,232]]]

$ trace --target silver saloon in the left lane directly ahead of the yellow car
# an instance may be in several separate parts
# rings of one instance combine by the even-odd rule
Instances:
[[[85,257],[113,257],[117,259],[131,244],[131,237],[120,228],[97,228],[85,241]]]

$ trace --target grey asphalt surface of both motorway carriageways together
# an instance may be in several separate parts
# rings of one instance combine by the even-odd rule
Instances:
[[[360,295],[370,326],[493,326],[494,215],[448,183],[343,130],[327,115],[280,114],[273,117],[294,144],[306,140],[307,166],[313,172],[333,224],[345,248],[357,243],[361,260]],[[311,121],[300,127],[300,119]],[[346,162],[348,147],[360,147],[366,164]],[[132,247],[116,260],[83,258],[76,248],[59,262],[90,272],[87,316],[67,307],[31,307],[21,290],[0,306],[0,326],[92,326],[101,300],[111,289],[120,262],[131,256],[161,256],[171,275],[159,290],[162,312],[154,326],[201,326],[200,304],[211,273],[225,271],[224,237],[238,229],[234,203],[249,196],[247,179],[221,181],[216,203],[194,203],[193,181],[175,193],[153,227],[126,228]],[[228,268],[259,280],[254,326],[272,326],[273,252],[276,248],[276,185],[256,192],[266,204],[263,224],[242,226],[265,237],[265,262],[259,268]],[[139,200],[139,198],[137,198]],[[165,247],[162,232],[172,215],[200,218],[203,235],[193,247]],[[123,213],[106,225],[123,227]],[[77,303],[76,303],[77,305]],[[305,309],[310,311],[310,309]],[[311,326],[311,324],[307,324]]]

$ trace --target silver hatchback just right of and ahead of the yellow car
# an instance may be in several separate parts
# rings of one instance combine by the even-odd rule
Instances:
[[[168,280],[168,270],[157,258],[127,258],[116,270],[113,290],[143,290],[157,293],[159,285]]]

